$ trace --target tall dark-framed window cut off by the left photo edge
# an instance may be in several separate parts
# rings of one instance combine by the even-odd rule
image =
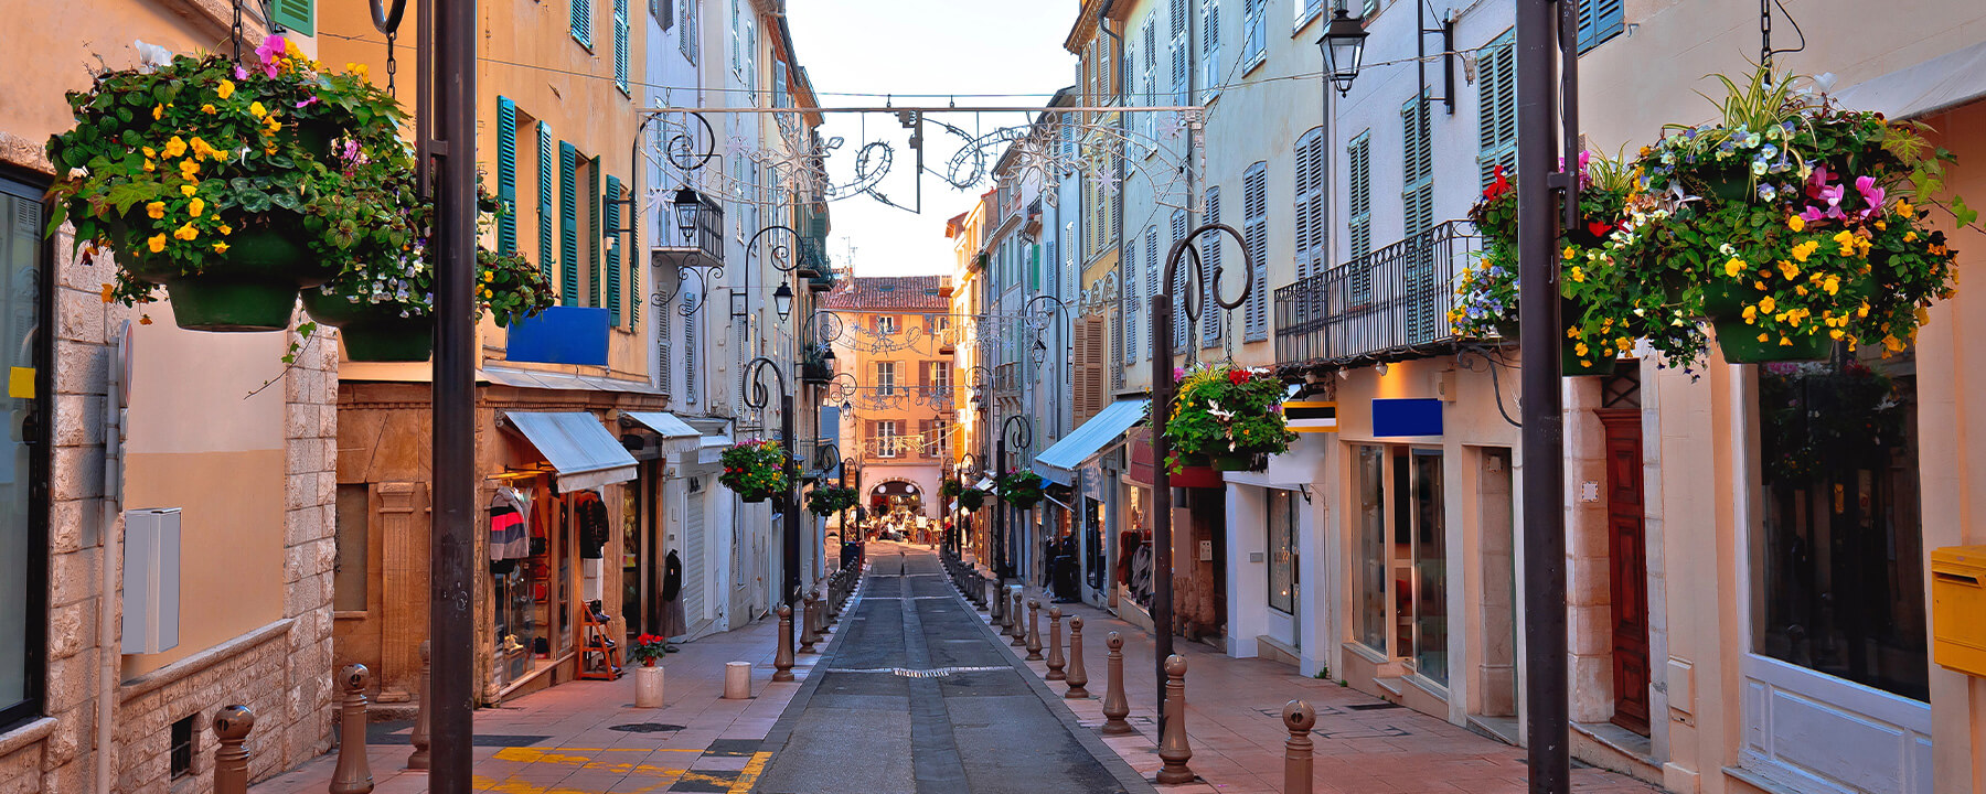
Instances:
[[[18,367],[50,377],[42,328],[42,193],[0,179],[0,343]],[[0,441],[0,730],[42,713],[48,631],[48,381],[34,399],[6,401],[14,429]]]

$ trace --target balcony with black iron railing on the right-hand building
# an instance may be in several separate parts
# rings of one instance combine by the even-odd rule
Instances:
[[[1275,290],[1277,363],[1354,365],[1450,345],[1456,274],[1476,250],[1474,226],[1450,220]]]

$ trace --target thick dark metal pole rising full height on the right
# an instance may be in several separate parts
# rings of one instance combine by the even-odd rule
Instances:
[[[1565,683],[1565,457],[1553,187],[1555,0],[1517,2],[1517,266],[1523,345],[1523,645],[1533,794],[1571,790]]]

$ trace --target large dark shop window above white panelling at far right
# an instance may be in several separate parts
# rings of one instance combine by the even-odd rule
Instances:
[[[1758,367],[1752,647],[1928,701],[1915,353]]]

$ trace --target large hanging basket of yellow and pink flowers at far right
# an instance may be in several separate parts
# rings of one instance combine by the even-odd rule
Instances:
[[[1670,365],[1702,355],[1694,318],[1732,363],[1817,359],[1835,341],[1905,349],[1954,288],[1928,208],[1976,220],[1962,198],[1934,198],[1950,153],[1922,125],[1841,109],[1797,77],[1718,79],[1720,119],[1668,127],[1634,163],[1640,224],[1595,270],[1595,294],[1615,296],[1597,316],[1638,326]],[[1664,306],[1623,298],[1654,292]]]

